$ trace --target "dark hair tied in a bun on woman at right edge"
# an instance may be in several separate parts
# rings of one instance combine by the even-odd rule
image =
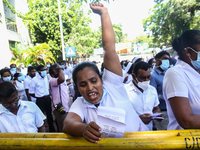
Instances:
[[[173,40],[172,47],[178,53],[179,59],[184,60],[184,49],[196,44],[200,44],[200,30],[187,30]]]

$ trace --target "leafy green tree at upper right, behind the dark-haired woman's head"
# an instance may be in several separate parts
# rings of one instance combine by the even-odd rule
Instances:
[[[150,30],[157,46],[170,45],[188,29],[199,29],[200,3],[197,0],[155,0],[150,16],[143,20],[144,30]]]

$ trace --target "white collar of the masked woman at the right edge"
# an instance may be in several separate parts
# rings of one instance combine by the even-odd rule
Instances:
[[[190,81],[194,84],[194,86],[197,86],[200,84],[200,80],[199,80],[200,74],[196,70],[194,70],[189,64],[178,59],[175,66],[183,69],[183,71],[189,77]],[[198,80],[195,80],[195,79],[198,79]]]

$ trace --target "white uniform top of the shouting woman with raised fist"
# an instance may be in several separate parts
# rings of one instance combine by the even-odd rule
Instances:
[[[103,75],[103,88],[107,91],[99,106],[121,108],[126,112],[125,132],[146,131],[147,127],[143,124],[137,113],[133,109],[123,84],[123,77],[120,77],[106,69]],[[79,97],[72,104],[69,112],[76,113],[86,123],[97,119],[98,108],[84,102],[83,97]]]

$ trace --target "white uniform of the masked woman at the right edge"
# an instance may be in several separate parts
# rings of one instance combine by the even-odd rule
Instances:
[[[190,65],[178,59],[176,65],[166,72],[163,82],[163,95],[169,115],[168,130],[183,129],[177,122],[168,99],[172,97],[186,97],[189,99],[193,113],[200,114],[199,89],[200,74]]]

